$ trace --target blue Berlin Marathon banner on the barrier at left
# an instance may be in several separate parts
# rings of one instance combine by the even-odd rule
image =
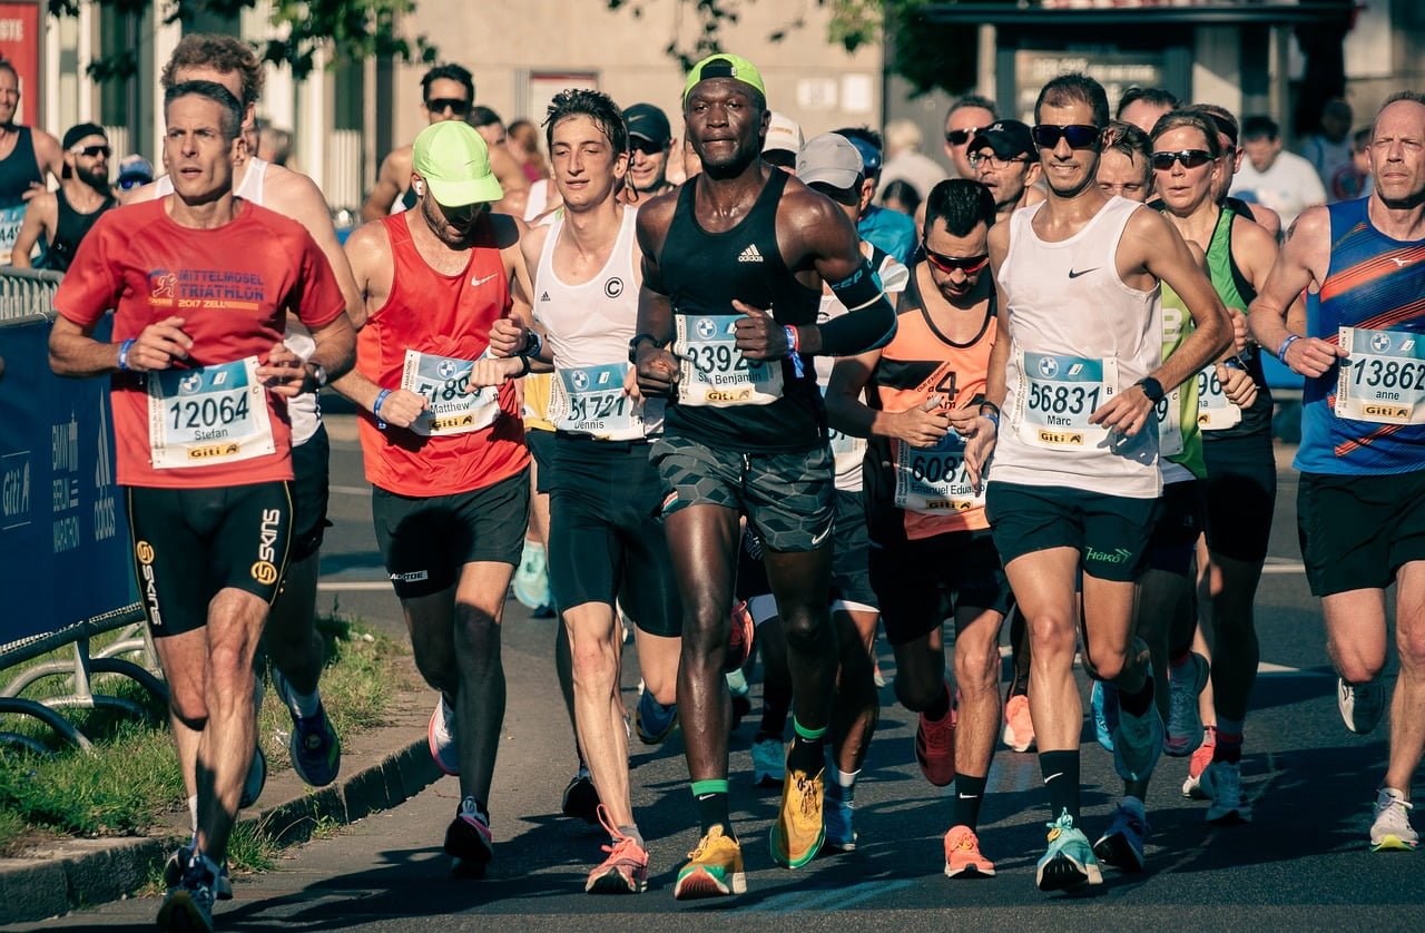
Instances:
[[[0,645],[137,600],[108,380],[56,376],[48,338],[0,325]]]

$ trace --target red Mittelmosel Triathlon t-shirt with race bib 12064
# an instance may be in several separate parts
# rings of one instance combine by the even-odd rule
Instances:
[[[115,342],[171,316],[182,318],[192,338],[190,358],[175,360],[171,375],[114,373],[118,483],[212,489],[289,480],[285,399],[234,389],[245,375],[241,363],[214,368],[249,356],[265,363],[288,312],[309,329],[335,320],[346,309],[336,276],[306,229],[281,214],[238,201],[231,224],[194,229],[175,224],[167,202],[107,211],[54,296],[56,312],[80,326],[113,308]],[[207,376],[200,379],[195,368]],[[258,443],[247,449],[271,453],[234,459],[242,444],[225,439],[229,429],[247,443],[251,434],[242,432],[262,422]],[[170,466],[155,464],[155,437],[162,439],[157,459]]]

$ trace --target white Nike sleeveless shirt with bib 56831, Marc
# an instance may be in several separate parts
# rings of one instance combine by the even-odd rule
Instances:
[[[1161,365],[1161,289],[1130,288],[1117,272],[1123,231],[1143,205],[1114,197],[1060,242],[1035,234],[1040,208],[1010,217],[999,271],[1012,343],[989,481],[1156,499],[1154,420],[1134,437],[1087,424],[1094,409]]]

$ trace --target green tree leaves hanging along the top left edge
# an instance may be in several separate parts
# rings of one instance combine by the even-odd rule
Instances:
[[[46,0],[51,16],[78,16],[84,3],[124,16],[142,16],[152,7],[160,23],[192,23],[200,16],[237,17],[258,0]],[[361,63],[370,57],[406,61],[435,61],[436,47],[425,36],[399,34],[400,19],[415,10],[416,0],[274,0],[274,34],[258,51],[266,61],[285,64],[304,78],[316,66],[316,53],[326,48],[335,63]],[[87,63],[98,81],[127,78],[138,68],[138,53],[120,48]]]

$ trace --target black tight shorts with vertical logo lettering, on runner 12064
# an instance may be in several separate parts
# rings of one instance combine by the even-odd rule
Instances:
[[[292,540],[289,483],[125,494],[138,601],[155,638],[202,628],[219,590],[276,597]]]

